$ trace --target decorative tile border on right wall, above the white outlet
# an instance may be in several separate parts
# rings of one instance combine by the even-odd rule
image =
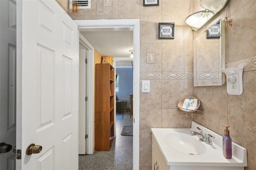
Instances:
[[[256,71],[256,56],[228,63],[228,68],[235,67],[244,67],[244,72]]]

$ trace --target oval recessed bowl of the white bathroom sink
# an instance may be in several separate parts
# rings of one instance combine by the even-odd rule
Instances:
[[[170,147],[183,154],[200,155],[206,152],[203,141],[184,130],[176,130],[167,134],[165,140]]]

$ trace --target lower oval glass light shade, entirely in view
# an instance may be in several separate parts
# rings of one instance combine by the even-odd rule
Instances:
[[[194,14],[188,16],[185,20],[185,23],[193,28],[201,28],[212,16],[214,13],[210,10],[198,11]],[[197,29],[193,29],[197,30]]]

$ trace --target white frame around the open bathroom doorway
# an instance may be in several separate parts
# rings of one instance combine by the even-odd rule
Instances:
[[[140,101],[140,20],[139,19],[117,19],[117,20],[74,20],[78,24],[78,30],[85,29],[97,29],[97,28],[130,28],[133,30],[133,50],[134,50],[134,72],[133,72],[133,97],[134,97],[134,124],[133,124],[133,169],[139,169],[139,153],[140,153],[140,140],[139,140],[139,101]],[[93,58],[94,55],[88,55],[89,58]],[[89,63],[88,63],[89,64]],[[88,67],[94,68],[91,63]],[[94,69],[91,69],[94,71]],[[88,73],[88,76],[94,77],[94,74]],[[94,81],[92,81],[94,82]],[[89,91],[94,91],[93,87],[88,87]],[[89,98],[88,98],[89,99]],[[89,99],[90,100],[90,99]],[[90,112],[92,113],[92,112]],[[93,119],[90,119],[93,123]],[[92,125],[89,125],[92,126]],[[90,127],[89,127],[90,128]],[[94,128],[90,128],[94,130]],[[93,131],[90,132],[94,134]],[[91,143],[93,144],[93,143]],[[93,145],[89,145],[89,150]]]

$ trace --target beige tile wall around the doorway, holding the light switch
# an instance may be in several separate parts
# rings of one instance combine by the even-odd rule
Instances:
[[[69,11],[75,20],[140,19],[140,77],[150,80],[150,93],[140,93],[140,169],[151,169],[150,128],[190,127],[192,117],[177,109],[178,101],[193,94],[193,32],[184,24],[190,0],[160,0],[144,7],[142,0],[92,0],[90,10]],[[171,10],[170,10],[171,9]],[[175,38],[158,39],[158,23],[175,22]],[[146,63],[146,52],[155,53],[155,63]]]

